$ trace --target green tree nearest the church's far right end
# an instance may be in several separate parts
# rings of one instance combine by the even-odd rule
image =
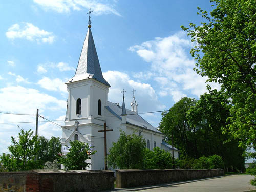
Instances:
[[[175,103],[169,112],[162,113],[162,119],[159,124],[160,131],[167,137],[168,141],[172,141],[172,132],[174,136],[174,146],[180,150],[180,158],[197,157],[197,145],[193,130],[188,124],[186,112],[194,106],[196,99],[184,97]],[[195,129],[195,127],[194,127]]]

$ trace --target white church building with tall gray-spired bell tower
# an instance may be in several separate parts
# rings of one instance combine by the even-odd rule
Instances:
[[[107,151],[112,142],[117,142],[121,129],[126,134],[142,135],[150,150],[159,147],[172,153],[172,146],[163,141],[163,134],[138,114],[135,97],[131,110],[125,108],[124,98],[122,106],[108,101],[111,86],[102,76],[90,24],[75,75],[66,84],[69,96],[61,139],[64,154],[67,151],[63,149],[70,146],[70,141],[89,143],[97,151],[88,161],[89,169],[104,169],[104,132],[98,132],[104,130],[104,123],[107,129],[113,129],[106,132]],[[175,158],[178,158],[178,151],[174,148]]]

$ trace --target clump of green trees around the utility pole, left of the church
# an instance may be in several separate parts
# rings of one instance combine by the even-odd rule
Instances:
[[[0,155],[3,170],[42,169],[47,161],[59,160],[57,152],[61,151],[61,143],[59,137],[49,141],[44,136],[34,136],[31,130],[21,129],[17,138],[11,137],[8,150],[10,154]]]

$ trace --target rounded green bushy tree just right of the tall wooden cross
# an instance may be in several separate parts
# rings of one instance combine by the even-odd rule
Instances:
[[[109,149],[108,164],[113,168],[142,169],[146,142],[142,136],[126,135],[120,131],[120,137]]]

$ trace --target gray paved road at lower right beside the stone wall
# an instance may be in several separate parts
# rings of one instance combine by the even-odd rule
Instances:
[[[155,191],[172,191],[172,192],[183,192],[183,191],[209,191],[209,192],[222,192],[222,191],[232,191],[232,192],[244,192],[256,190],[255,187],[250,185],[249,181],[253,179],[251,175],[227,175],[223,177],[217,177],[213,179],[201,180],[191,183],[179,184],[179,185],[169,185],[159,188],[140,190],[145,192],[155,192]],[[134,191],[134,190],[133,190]]]

